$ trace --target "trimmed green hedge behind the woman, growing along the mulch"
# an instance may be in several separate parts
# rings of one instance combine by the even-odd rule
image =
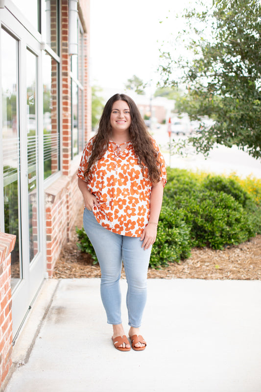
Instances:
[[[186,259],[193,246],[223,249],[261,234],[261,181],[169,168],[167,177],[150,267]],[[84,229],[76,231],[96,263]]]

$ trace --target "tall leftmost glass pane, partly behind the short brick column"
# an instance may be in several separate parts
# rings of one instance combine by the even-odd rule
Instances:
[[[11,253],[11,288],[22,277],[20,266],[20,135],[18,112],[18,42],[1,30],[2,149],[4,232],[16,235]]]

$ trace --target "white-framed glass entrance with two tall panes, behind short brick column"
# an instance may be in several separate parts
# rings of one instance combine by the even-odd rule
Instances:
[[[0,29],[2,188],[0,230],[16,235],[11,253],[13,334],[46,270],[44,255],[43,144],[39,143],[40,43],[10,14]],[[8,30],[12,26],[12,32]],[[42,132],[43,133],[43,132]],[[1,146],[2,145],[2,146]],[[0,161],[1,162],[1,161]],[[1,186],[0,186],[1,188]],[[43,191],[42,191],[43,193]],[[2,206],[0,205],[0,209]],[[1,214],[2,215],[2,214]]]

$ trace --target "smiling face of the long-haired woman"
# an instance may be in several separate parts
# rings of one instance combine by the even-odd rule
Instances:
[[[131,115],[127,102],[121,100],[114,102],[110,122],[114,132],[124,133],[129,130]]]

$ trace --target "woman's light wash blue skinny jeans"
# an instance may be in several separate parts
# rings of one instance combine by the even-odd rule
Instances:
[[[140,238],[122,236],[99,224],[92,211],[84,209],[83,227],[100,265],[100,293],[109,324],[121,324],[119,279],[124,265],[128,284],[126,305],[129,325],[140,327],[147,298],[147,271],[151,247],[144,250]]]

